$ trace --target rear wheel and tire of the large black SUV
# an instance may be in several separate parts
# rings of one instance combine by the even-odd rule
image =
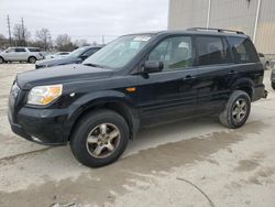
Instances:
[[[220,122],[230,129],[240,128],[248,120],[250,110],[250,96],[242,90],[235,90],[231,94],[224,110],[219,116]]]

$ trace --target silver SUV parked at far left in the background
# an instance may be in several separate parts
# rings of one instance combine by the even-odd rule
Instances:
[[[38,47],[9,47],[0,53],[0,64],[6,62],[35,63],[43,58]]]

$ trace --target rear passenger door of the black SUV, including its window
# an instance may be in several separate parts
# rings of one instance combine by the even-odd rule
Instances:
[[[235,72],[229,45],[223,36],[196,35],[197,103],[196,115],[212,113],[223,108]]]

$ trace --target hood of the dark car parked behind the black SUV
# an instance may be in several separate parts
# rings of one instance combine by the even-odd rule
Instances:
[[[67,57],[55,57],[51,59],[37,61],[35,65],[36,67],[53,67],[57,65],[67,65],[80,62],[81,62],[80,58],[67,56]]]

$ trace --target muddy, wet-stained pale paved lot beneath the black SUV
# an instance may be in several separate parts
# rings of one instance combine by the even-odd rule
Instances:
[[[102,168],[79,165],[68,146],[47,148],[10,131],[7,101],[16,73],[0,65],[0,206],[275,206],[275,91],[229,130],[215,118],[139,133],[123,157]]]

